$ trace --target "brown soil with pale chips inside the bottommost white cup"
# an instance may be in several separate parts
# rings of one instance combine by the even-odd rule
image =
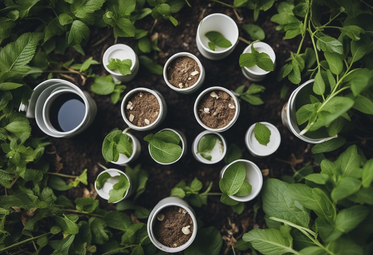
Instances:
[[[193,221],[189,213],[184,213],[181,207],[169,206],[159,214],[163,214],[164,218],[162,221],[156,219],[153,231],[160,243],[175,248],[188,242],[193,233]],[[187,226],[189,226],[190,233],[184,234],[182,228]]]

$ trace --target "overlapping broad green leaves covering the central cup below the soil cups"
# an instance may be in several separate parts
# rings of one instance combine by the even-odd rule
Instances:
[[[150,133],[144,137],[149,142],[150,155],[160,163],[172,163],[179,159],[182,148],[179,145],[180,137],[171,130]]]

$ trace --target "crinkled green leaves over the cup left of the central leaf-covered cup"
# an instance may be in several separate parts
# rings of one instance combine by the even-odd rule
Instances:
[[[118,161],[119,153],[127,158],[132,155],[131,138],[121,130],[115,130],[107,135],[102,144],[102,155],[108,162]]]

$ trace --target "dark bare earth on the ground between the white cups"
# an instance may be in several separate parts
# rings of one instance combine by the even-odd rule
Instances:
[[[179,21],[178,26],[173,26],[168,20],[161,20],[156,23],[153,34],[159,34],[158,46],[162,51],[155,55],[152,53],[149,57],[156,58],[158,63],[164,65],[167,59],[175,53],[187,51],[194,54],[200,59],[206,71],[206,80],[203,86],[193,94],[179,94],[166,85],[162,75],[152,75],[144,67],[140,67],[140,71],[134,80],[125,84],[127,86],[126,92],[133,88],[145,87],[158,90],[165,98],[168,107],[166,119],[151,132],[154,133],[163,128],[175,128],[184,132],[187,138],[188,152],[186,156],[175,164],[163,166],[152,160],[149,155],[147,142],[143,141],[143,138],[150,132],[130,130],[141,141],[142,146],[141,155],[132,166],[141,163],[142,168],[147,170],[149,174],[147,189],[137,199],[137,203],[150,210],[160,199],[169,196],[170,190],[181,180],[190,183],[194,177],[197,177],[204,183],[203,191],[206,189],[208,182],[213,181],[211,192],[220,192],[219,173],[225,165],[223,161],[218,164],[207,165],[195,160],[191,153],[191,144],[194,138],[204,130],[195,119],[193,112],[194,102],[201,91],[211,86],[222,86],[234,90],[240,85],[248,86],[252,82],[242,75],[238,64],[239,55],[247,47],[245,42],[239,41],[233,53],[219,61],[208,60],[198,52],[195,42],[198,23],[203,17],[217,12],[230,16],[238,24],[240,36],[247,40],[250,40],[250,37],[242,30],[242,24],[256,23],[261,26],[266,33],[266,38],[263,41],[273,47],[277,62],[276,70],[269,73],[264,81],[258,83],[266,88],[266,91],[261,95],[264,104],[252,106],[245,101],[241,101],[241,113],[237,122],[229,130],[223,132],[222,135],[226,138],[228,144],[235,143],[244,149],[242,158],[257,164],[262,170],[264,179],[280,179],[283,174],[292,175],[294,173],[292,167],[299,170],[307,163],[314,164],[313,154],[311,153],[312,146],[296,138],[283,126],[280,117],[283,105],[297,85],[291,84],[287,79],[278,82],[278,70],[290,56],[290,51],[297,51],[300,38],[283,40],[283,34],[277,32],[275,30],[276,24],[270,21],[270,17],[276,12],[275,7],[272,7],[267,12],[261,11],[256,22],[253,20],[253,11],[246,10],[239,13],[243,18],[242,21],[239,21],[233,9],[229,7],[212,1],[192,1],[192,8],[185,6],[179,13],[173,15]],[[148,16],[141,21],[139,27],[150,31],[153,23],[154,19]],[[91,45],[106,36],[107,39],[102,43],[91,47]],[[82,63],[85,59],[92,56],[93,59],[102,62],[104,51],[114,43],[115,38],[112,35],[111,27],[91,29],[90,40],[87,46],[84,47],[86,55],[81,56],[70,49],[64,56],[61,56],[60,60],[63,62],[74,58],[75,63]],[[117,43],[124,43],[134,47],[137,41],[131,38],[118,38]],[[310,40],[306,37],[303,47],[309,47],[310,44]],[[109,75],[102,65],[94,66],[94,73],[96,75]],[[81,85],[82,79],[79,75],[72,74],[70,76],[75,79],[75,81],[72,81],[73,83],[85,91],[90,91],[90,85],[94,81],[93,78],[89,78],[85,85]],[[54,78],[67,79],[66,76],[59,75],[55,75]],[[40,82],[45,79],[47,79],[47,73],[40,79]],[[303,77],[301,83],[307,81],[307,79],[308,77]],[[289,85],[290,89],[286,98],[280,99],[280,89],[284,84]],[[34,87],[37,84],[30,85]],[[90,95],[94,98],[98,108],[94,123],[85,132],[73,138],[48,138],[52,143],[52,145],[47,147],[47,153],[49,153],[51,161],[50,171],[78,175],[85,168],[88,169],[88,186],[80,185],[78,188],[66,193],[72,200],[83,196],[85,187],[89,191],[94,192],[93,183],[98,173],[103,170],[98,166],[98,163],[106,167],[125,170],[125,167],[106,163],[101,154],[101,146],[105,136],[114,128],[123,130],[127,127],[120,113],[120,102],[113,105],[109,96],[95,95],[93,92],[90,92]],[[244,136],[248,127],[261,121],[272,123],[279,129],[281,134],[280,148],[273,155],[266,158],[253,157],[244,143]],[[34,120],[31,121],[31,124],[34,137],[44,135],[38,129]],[[358,145],[364,147],[365,144],[359,142]],[[363,151],[365,151],[364,148]],[[317,166],[315,171],[319,171]],[[106,200],[99,197],[98,199],[100,200],[101,208],[115,210],[114,205],[108,204]],[[257,201],[258,198],[247,202],[244,212],[238,215],[233,213],[231,207],[220,202],[220,196],[209,196],[209,205],[195,208],[195,211],[197,217],[203,221],[204,226],[216,226],[221,231],[223,236],[222,253],[228,254],[231,244],[235,242],[235,239],[239,239],[243,233],[253,228],[265,227],[263,211],[259,209],[257,214],[254,213],[253,206]],[[141,221],[146,223],[146,219]]]

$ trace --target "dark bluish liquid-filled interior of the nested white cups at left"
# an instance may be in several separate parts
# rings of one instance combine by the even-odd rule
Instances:
[[[58,96],[49,111],[52,126],[61,132],[68,132],[78,127],[84,116],[84,101],[75,93],[63,93]]]

